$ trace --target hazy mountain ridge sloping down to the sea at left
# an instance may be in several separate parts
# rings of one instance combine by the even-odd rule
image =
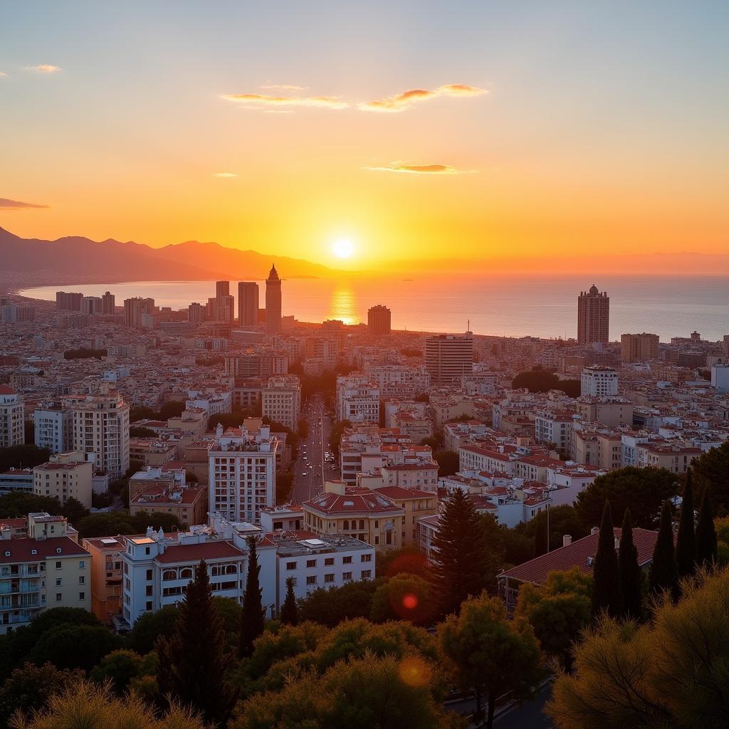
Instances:
[[[95,242],[81,236],[55,241],[20,238],[0,227],[0,270],[23,281],[54,278],[58,284],[120,281],[260,280],[276,265],[282,278],[317,277],[335,270],[310,261],[226,248],[219,243],[186,241],[163,248]]]

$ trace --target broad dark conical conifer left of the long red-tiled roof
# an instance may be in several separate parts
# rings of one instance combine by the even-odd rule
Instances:
[[[499,557],[488,544],[484,518],[460,488],[445,502],[432,547],[433,596],[443,615],[494,583]]]

